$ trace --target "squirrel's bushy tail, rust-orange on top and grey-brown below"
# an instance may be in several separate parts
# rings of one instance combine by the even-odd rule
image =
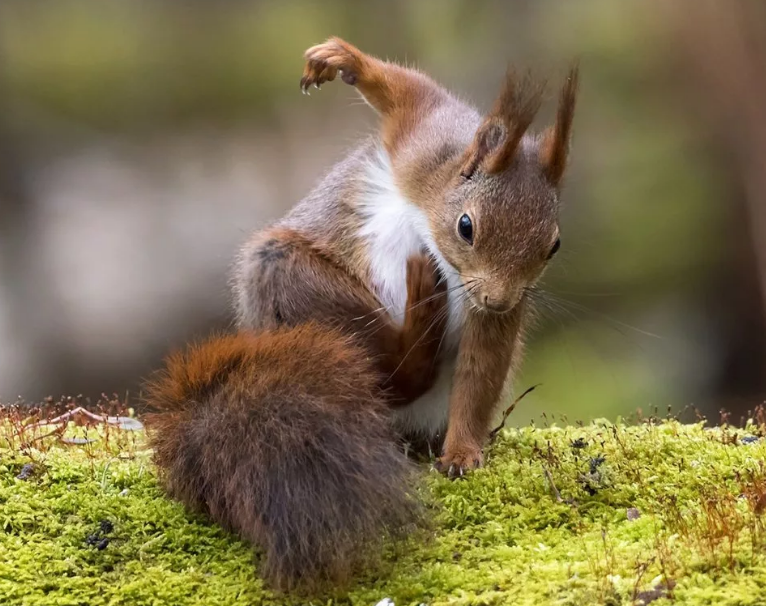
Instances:
[[[167,492],[259,545],[272,584],[342,583],[420,516],[377,378],[315,325],[170,356],[147,401]]]

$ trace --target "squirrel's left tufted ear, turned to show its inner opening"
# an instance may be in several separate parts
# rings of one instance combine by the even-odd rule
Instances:
[[[505,83],[492,111],[476,132],[460,174],[470,176],[480,165],[488,174],[501,172],[511,164],[519,141],[540,108],[543,83],[535,83],[530,72],[521,78],[509,68]]]

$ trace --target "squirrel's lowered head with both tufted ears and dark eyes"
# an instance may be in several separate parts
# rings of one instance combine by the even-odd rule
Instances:
[[[508,73],[502,93],[461,158],[446,204],[430,213],[444,258],[474,307],[512,309],[560,246],[559,191],[567,164],[578,71],[561,91],[556,123],[529,134],[543,88]]]

